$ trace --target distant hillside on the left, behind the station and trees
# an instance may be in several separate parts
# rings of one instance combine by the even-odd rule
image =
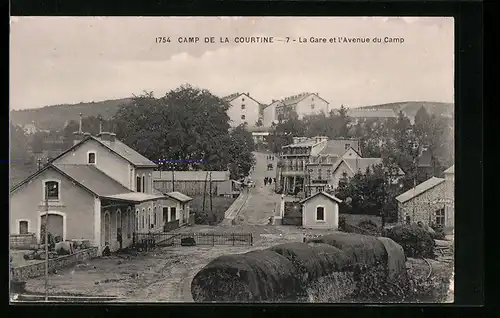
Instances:
[[[131,101],[132,98],[122,98],[73,105],[63,104],[13,110],[10,112],[10,119],[15,125],[24,126],[34,121],[35,125],[40,129],[57,130],[63,128],[67,121],[78,120],[80,113],[82,113],[83,117],[101,115],[104,119],[109,119],[114,116],[119,105]]]

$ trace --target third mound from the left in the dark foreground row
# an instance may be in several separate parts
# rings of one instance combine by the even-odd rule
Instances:
[[[351,258],[353,264],[375,266],[387,263],[387,252],[384,244],[375,236],[336,232],[307,241],[334,246]]]

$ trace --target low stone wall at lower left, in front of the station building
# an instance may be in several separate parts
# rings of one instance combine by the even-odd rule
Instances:
[[[54,259],[49,259],[49,272],[54,269],[61,269],[72,265],[78,261],[97,257],[97,247],[77,251],[72,255],[65,255]],[[11,267],[12,281],[26,281],[29,278],[45,275],[45,262],[36,264]]]

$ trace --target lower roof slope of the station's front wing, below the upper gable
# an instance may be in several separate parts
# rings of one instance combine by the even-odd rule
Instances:
[[[56,164],[56,168],[98,196],[132,192],[93,165]]]

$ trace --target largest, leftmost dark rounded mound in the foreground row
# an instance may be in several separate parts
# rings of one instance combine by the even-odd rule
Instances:
[[[197,302],[292,301],[300,289],[293,264],[270,250],[221,256],[191,282]]]

